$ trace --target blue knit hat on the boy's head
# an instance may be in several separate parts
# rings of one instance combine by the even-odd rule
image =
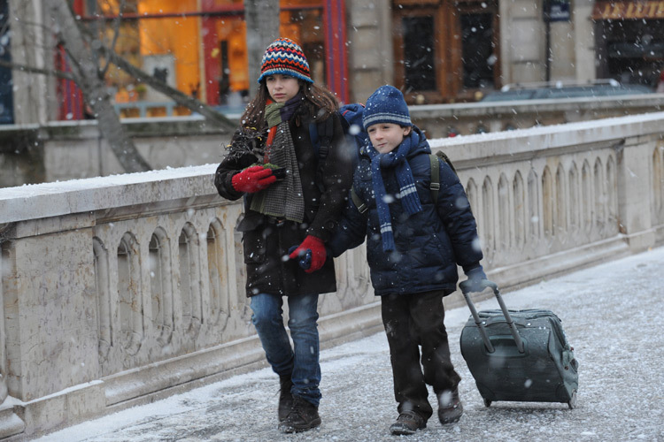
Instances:
[[[399,126],[413,126],[404,95],[394,86],[381,86],[368,98],[362,113],[362,126],[376,123],[394,123]]]

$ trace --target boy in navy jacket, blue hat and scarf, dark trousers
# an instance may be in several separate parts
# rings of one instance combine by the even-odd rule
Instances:
[[[353,189],[368,210],[360,213],[349,198],[328,246],[338,256],[367,238],[367,262],[374,292],[381,296],[398,402],[398,419],[390,431],[413,434],[433,414],[427,385],[436,392],[441,423],[457,422],[463,413],[443,297],[456,289],[457,263],[482,291],[483,255],[466,193],[444,162],[438,164],[440,190],[432,201],[431,149],[411,123],[404,95],[391,86],[378,88],[367,100],[362,123],[370,143],[359,151]]]

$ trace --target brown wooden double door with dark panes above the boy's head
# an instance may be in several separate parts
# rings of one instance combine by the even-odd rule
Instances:
[[[408,103],[475,100],[498,72],[495,0],[393,0],[395,84]]]

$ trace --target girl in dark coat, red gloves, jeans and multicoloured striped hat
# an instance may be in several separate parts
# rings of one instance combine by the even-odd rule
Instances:
[[[275,40],[263,56],[259,91],[214,179],[224,198],[244,197],[237,230],[243,232],[251,322],[280,378],[278,416],[284,432],[320,425],[316,309],[320,293],[336,291],[325,241],[352,180],[337,109],[335,96],[313,84],[297,43]],[[332,135],[323,160],[309,128],[326,121]],[[283,325],[282,296],[289,302],[293,347]]]

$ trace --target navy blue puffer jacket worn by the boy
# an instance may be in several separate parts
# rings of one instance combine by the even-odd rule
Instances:
[[[415,126],[410,136],[419,138],[419,142],[413,143],[416,148],[411,149],[407,161],[413,171],[421,212],[408,217],[401,202],[396,199],[399,187],[394,169],[382,169],[386,193],[394,197],[394,202],[390,203],[390,216],[395,250],[382,250],[371,180],[371,159],[364,149],[360,150],[353,187],[367,204],[368,212],[360,214],[349,197],[344,216],[328,247],[334,256],[338,256],[346,249],[358,247],[367,238],[367,261],[376,295],[433,290],[449,294],[456,289],[457,263],[468,276],[474,272],[483,275],[480,265],[483,255],[475,217],[459,178],[444,162],[439,162],[440,191],[434,204],[429,189],[429,142]]]

